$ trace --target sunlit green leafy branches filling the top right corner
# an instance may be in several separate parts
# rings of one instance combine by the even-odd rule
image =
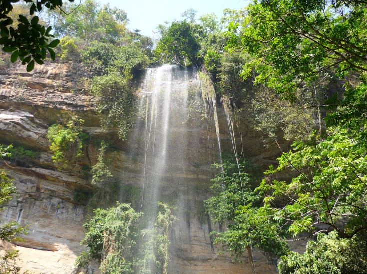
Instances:
[[[366,12],[360,1],[254,1],[242,23],[229,24],[228,48],[252,56],[244,77],[255,70],[255,83],[292,97],[320,72],[367,70]]]

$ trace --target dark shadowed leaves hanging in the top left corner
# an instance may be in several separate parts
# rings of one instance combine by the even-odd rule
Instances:
[[[47,50],[51,59],[55,59],[53,48],[59,44],[59,40],[49,41],[54,35],[51,34],[52,27],[45,27],[40,23],[38,16],[33,16],[35,12],[40,12],[43,7],[50,10],[62,10],[62,0],[23,0],[31,3],[29,14],[33,17],[29,20],[26,16],[19,14],[18,24],[15,26],[9,13],[13,10],[13,3],[20,0],[3,0],[0,2],[0,45],[5,52],[11,52],[11,62],[18,58],[22,64],[27,65],[27,71],[34,68],[35,62],[43,64],[47,55]],[[74,0],[69,0],[73,2]]]

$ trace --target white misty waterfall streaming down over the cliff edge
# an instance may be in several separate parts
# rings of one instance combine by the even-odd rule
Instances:
[[[129,142],[134,148],[132,157],[143,163],[138,209],[144,211],[150,226],[157,202],[167,199],[165,188],[187,169],[189,90],[195,94],[199,90],[193,69],[166,64],[149,68],[138,92],[139,115]]]

